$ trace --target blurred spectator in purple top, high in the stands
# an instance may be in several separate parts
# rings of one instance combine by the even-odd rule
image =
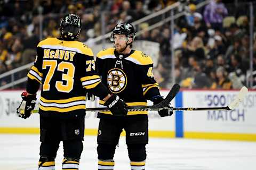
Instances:
[[[228,15],[228,10],[221,0],[211,0],[204,9],[204,21],[208,28],[222,30],[222,20]]]

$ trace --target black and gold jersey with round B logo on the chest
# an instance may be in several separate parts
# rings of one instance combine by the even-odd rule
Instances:
[[[159,95],[158,84],[153,76],[153,61],[139,50],[119,55],[115,48],[101,50],[96,66],[102,82],[117,94],[128,106],[147,106],[147,99]],[[105,102],[100,100],[100,105]],[[127,115],[147,115],[147,111],[128,112]],[[110,116],[111,112],[98,113],[98,117]]]

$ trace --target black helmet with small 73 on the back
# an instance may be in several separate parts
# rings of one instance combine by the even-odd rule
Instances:
[[[61,38],[67,40],[78,39],[82,23],[77,14],[66,14],[60,22]]]

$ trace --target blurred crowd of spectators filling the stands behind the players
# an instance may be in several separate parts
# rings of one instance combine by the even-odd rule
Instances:
[[[106,22],[105,31],[109,32],[117,23],[136,21],[175,2],[0,1],[0,74],[33,62],[40,38],[58,37],[59,23],[66,13],[81,16],[79,40],[90,43],[92,38],[101,35],[102,11]],[[172,82],[170,71],[173,38],[175,82],[180,83],[183,88],[239,89],[246,84],[250,67],[249,5],[242,3],[235,6],[224,4],[221,0],[212,0],[197,10],[196,4],[200,2],[202,0],[189,1],[180,8],[187,12],[175,20],[173,37],[170,23],[148,31],[150,23],[144,22],[139,25],[144,31],[135,40],[161,44],[159,62],[154,73],[162,88],[170,88],[169,84]],[[42,37],[39,37],[40,12],[43,14]],[[256,52],[256,43],[253,52]],[[255,70],[256,56],[253,58],[253,67]],[[15,77],[18,79],[24,77],[24,74],[20,73]],[[0,86],[8,81],[10,80],[1,80]],[[24,84],[19,87],[22,86]]]

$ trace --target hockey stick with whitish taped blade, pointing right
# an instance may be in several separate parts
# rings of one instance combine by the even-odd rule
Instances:
[[[237,96],[226,107],[177,107],[171,108],[172,111],[231,111],[239,106],[244,97],[248,93],[248,89],[244,86],[238,92]]]

